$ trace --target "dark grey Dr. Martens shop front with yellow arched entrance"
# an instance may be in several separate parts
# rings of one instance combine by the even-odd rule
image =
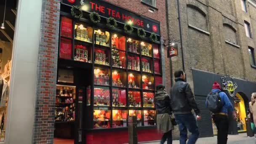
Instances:
[[[217,134],[216,126],[211,119],[210,112],[205,107],[205,99],[207,94],[211,91],[214,81],[217,81],[221,85],[221,91],[229,96],[237,114],[236,119],[234,119],[232,118],[232,112],[228,111],[229,134],[245,132],[245,117],[248,115],[249,101],[251,101],[251,93],[256,90],[256,83],[210,72],[203,72],[198,69],[192,69],[192,74],[195,99],[199,102],[200,109],[202,109],[202,117],[204,117],[202,120],[198,121],[201,135],[212,136]]]

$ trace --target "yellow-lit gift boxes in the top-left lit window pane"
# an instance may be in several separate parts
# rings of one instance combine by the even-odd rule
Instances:
[[[83,24],[75,24],[75,40],[81,40],[91,43],[91,37],[88,36],[88,30],[92,30],[91,27],[83,27]]]

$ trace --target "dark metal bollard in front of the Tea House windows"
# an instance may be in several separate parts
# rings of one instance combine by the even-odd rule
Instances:
[[[137,136],[137,117],[129,116],[128,117],[128,137],[129,144],[138,144],[138,136]]]

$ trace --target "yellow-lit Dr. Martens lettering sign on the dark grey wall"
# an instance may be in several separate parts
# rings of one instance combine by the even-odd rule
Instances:
[[[233,83],[230,80],[226,80],[225,77],[221,77],[222,89],[229,93],[229,96],[235,96],[235,89],[237,88],[237,83]]]

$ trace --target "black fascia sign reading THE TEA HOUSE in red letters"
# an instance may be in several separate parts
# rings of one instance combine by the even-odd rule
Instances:
[[[152,19],[145,19],[135,13],[117,7],[103,0],[62,0],[66,5],[78,5],[86,12],[97,12],[105,18],[113,17],[123,24],[132,24],[133,27],[143,28],[147,32],[155,32],[160,35],[160,24]],[[143,13],[144,11],[141,11]]]

